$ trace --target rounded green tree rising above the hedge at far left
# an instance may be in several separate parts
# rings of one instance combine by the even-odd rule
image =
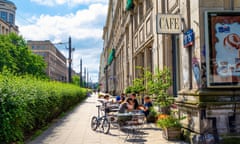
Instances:
[[[29,50],[26,41],[14,33],[0,35],[0,71],[7,68],[17,75],[45,77],[43,58]]]

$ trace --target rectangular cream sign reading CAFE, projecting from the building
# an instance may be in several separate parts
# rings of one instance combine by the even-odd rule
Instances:
[[[179,34],[181,31],[180,15],[157,14],[158,34]]]

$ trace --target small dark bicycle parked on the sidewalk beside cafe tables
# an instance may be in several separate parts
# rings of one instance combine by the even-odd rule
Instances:
[[[91,128],[93,131],[96,131],[97,128],[102,128],[102,131],[104,134],[108,134],[110,130],[110,122],[108,121],[107,115],[106,115],[106,110],[104,106],[97,105],[98,108],[98,115],[93,116],[91,119]],[[104,115],[101,116],[100,111],[101,107],[104,109]]]

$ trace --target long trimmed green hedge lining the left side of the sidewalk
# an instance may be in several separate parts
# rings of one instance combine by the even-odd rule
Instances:
[[[23,142],[86,97],[76,85],[0,74],[0,143]]]

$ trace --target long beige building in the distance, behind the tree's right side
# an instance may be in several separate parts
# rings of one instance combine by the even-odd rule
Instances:
[[[68,68],[66,57],[52,44],[46,41],[28,41],[29,48],[44,57],[47,63],[46,74],[56,81],[67,82]]]

